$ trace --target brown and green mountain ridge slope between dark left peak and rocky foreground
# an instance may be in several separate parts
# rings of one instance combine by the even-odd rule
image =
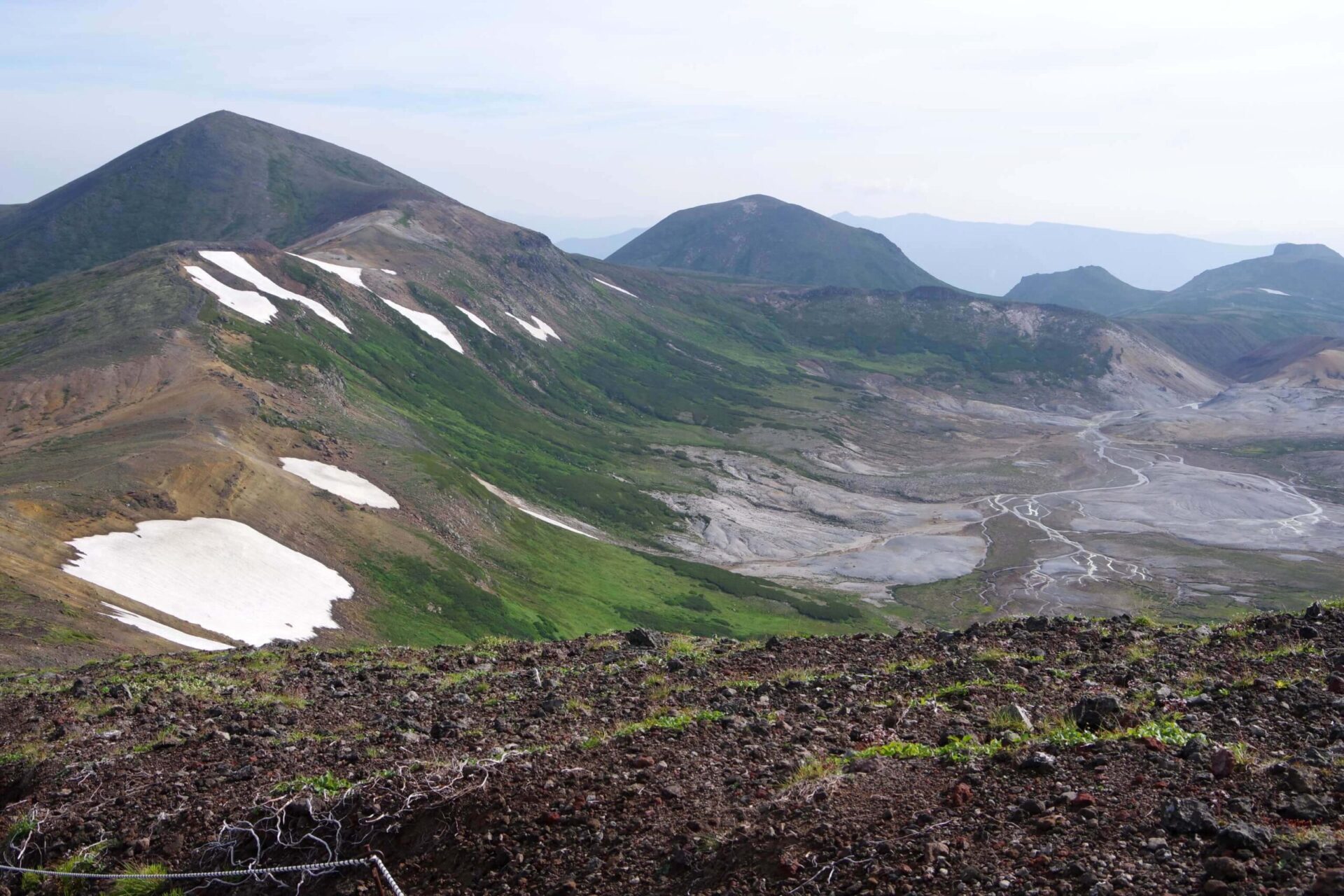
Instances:
[[[280,290],[269,321],[200,285],[188,269],[219,290],[254,285],[211,251]],[[852,439],[934,458],[933,481],[956,496],[980,488],[943,474],[945,439],[977,443],[1001,424],[905,398],[948,390],[1028,422],[1047,404],[1109,408],[1132,359],[1169,380],[1171,400],[1210,392],[1086,312],[622,267],[438,196],[290,251],[341,267],[263,240],[177,240],[0,294],[0,626],[24,633],[0,641],[0,662],[165,647],[110,625],[103,602],[218,639],[62,571],[71,539],[194,517],[242,523],[349,582],[321,643],[883,629],[890,606],[821,579],[676,556],[714,521],[675,508],[722,497],[724,472],[747,463],[732,458],[749,458],[766,470],[751,488],[797,474],[802,494],[839,489],[841,509],[806,504],[774,529],[802,521],[832,537],[918,506],[823,482],[831,467],[813,458]],[[314,488],[286,457],[353,472],[399,508]],[[977,476],[1001,492],[1020,469]],[[891,481],[874,492],[891,496]],[[886,509],[844,520],[874,501]],[[931,525],[960,537],[968,520],[949,510]]]

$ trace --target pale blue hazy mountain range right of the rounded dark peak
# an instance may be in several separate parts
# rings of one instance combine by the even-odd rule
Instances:
[[[1173,289],[1195,274],[1270,251],[1171,234],[1130,234],[1075,224],[988,224],[933,215],[836,220],[888,236],[935,277],[1003,296],[1028,274],[1099,266],[1140,289]]]

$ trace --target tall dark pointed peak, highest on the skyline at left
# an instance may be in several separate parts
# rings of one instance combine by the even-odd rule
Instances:
[[[216,111],[0,208],[0,290],[176,239],[284,246],[409,199],[446,197],[348,149]]]

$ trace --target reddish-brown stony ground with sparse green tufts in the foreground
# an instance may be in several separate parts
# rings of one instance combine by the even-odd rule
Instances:
[[[407,893],[1340,893],[1341,635],[1317,606],[11,676],[5,849],[113,870],[378,850]]]

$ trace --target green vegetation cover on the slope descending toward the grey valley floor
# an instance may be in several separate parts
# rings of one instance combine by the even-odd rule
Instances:
[[[800,419],[821,431],[816,410],[843,406],[844,390],[800,372],[802,359],[910,382],[957,377],[986,390],[1005,371],[1058,379],[1099,363],[1078,367],[1074,357],[1073,367],[1060,365],[1051,341],[1093,325],[1086,316],[1060,318],[1059,333],[1032,348],[1015,330],[968,328],[962,306],[946,298],[818,293],[782,305],[745,304],[711,281],[641,287],[644,298],[626,304],[626,313],[583,316],[583,339],[559,347],[458,326],[469,349],[464,357],[367,293],[294,259],[278,269],[340,314],[356,339],[312,314],[286,312],[270,325],[253,324],[187,285],[177,263],[171,250],[149,253],[125,270],[11,293],[0,301],[0,326],[11,324],[0,329],[8,340],[0,347],[26,364],[51,352],[70,361],[106,348],[106,330],[138,333],[134,347],[142,349],[155,329],[190,324],[247,377],[300,395],[337,383],[353,412],[319,403],[300,418],[269,406],[255,412],[314,439],[386,442],[382,457],[414,470],[444,500],[484,508],[496,523],[493,535],[465,552],[430,536],[433,521],[414,532],[419,549],[348,545],[347,570],[378,596],[368,614],[374,630],[406,643],[573,637],[633,625],[737,635],[882,626],[874,610],[833,595],[782,591],[566,533],[504,509],[470,476],[652,547],[675,519],[644,489],[694,488],[696,472],[680,470],[649,445],[731,446],[741,429]],[[457,317],[454,300],[437,289],[411,283],[410,292],[445,320]],[[134,296],[141,304],[128,305]],[[114,328],[118,314],[132,325]],[[847,328],[847,320],[860,325]],[[51,345],[34,352],[39,339]],[[411,435],[392,443],[388,420]],[[86,462],[97,462],[95,454]],[[411,504],[429,508],[434,498],[411,496]]]

